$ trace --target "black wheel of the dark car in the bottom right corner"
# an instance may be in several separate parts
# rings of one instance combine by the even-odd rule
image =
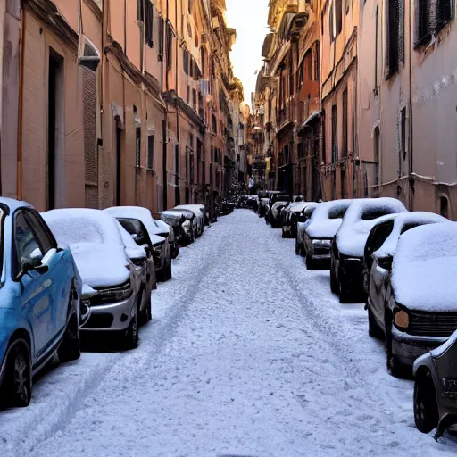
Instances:
[[[414,421],[422,433],[430,433],[438,425],[436,390],[428,370],[422,371],[414,382]]]

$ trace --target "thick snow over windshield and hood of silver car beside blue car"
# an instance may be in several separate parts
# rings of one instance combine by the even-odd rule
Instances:
[[[41,215],[57,242],[69,245],[79,274],[88,286],[118,286],[129,279],[118,221],[108,213],[79,208]]]

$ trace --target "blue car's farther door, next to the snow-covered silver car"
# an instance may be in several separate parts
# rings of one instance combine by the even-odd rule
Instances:
[[[57,242],[47,227],[46,222],[35,210],[27,212],[27,220],[37,237],[39,245],[45,253],[46,276],[52,280],[52,320],[54,321],[54,337],[62,336],[67,320],[71,294],[73,269],[68,250],[57,249]]]

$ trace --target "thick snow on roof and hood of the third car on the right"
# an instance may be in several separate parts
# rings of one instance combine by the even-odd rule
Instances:
[[[354,200],[337,231],[339,252],[353,257],[363,257],[370,230],[378,222],[378,218],[386,214],[407,211],[404,204],[395,198]]]

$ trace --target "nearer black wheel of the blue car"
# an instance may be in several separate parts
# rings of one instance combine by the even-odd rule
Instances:
[[[4,398],[12,408],[29,406],[32,396],[32,370],[28,343],[19,339],[12,343],[4,377]]]

